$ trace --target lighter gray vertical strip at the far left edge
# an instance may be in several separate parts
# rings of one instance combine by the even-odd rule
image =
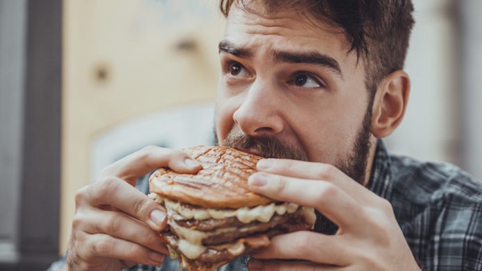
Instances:
[[[18,261],[26,1],[0,0],[0,262]]]

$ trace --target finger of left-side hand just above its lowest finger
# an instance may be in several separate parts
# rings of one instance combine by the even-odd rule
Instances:
[[[85,217],[87,218],[87,215]],[[162,254],[169,254],[159,233],[143,222],[118,211],[90,211],[83,231],[87,234],[107,234]]]

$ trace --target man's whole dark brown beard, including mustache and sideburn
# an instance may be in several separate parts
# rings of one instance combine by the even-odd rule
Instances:
[[[345,157],[340,157],[333,165],[343,171],[347,176],[356,182],[363,184],[366,177],[366,167],[368,164],[368,154],[370,152],[370,126],[372,119],[372,102],[369,103],[367,112],[361,123],[356,139],[352,144],[352,150]],[[216,127],[214,127],[215,144],[219,145],[216,137]],[[266,158],[278,159],[294,159],[300,161],[308,161],[307,153],[300,148],[289,146],[285,141],[275,137],[252,137],[241,131],[240,128],[234,128],[223,140],[221,146],[231,148],[254,148],[259,155]],[[316,223],[313,231],[321,234],[336,234],[338,226],[332,221],[315,210]]]

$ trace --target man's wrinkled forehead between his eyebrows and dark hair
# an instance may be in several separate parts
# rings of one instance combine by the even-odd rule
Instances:
[[[351,44],[341,30],[314,20],[296,11],[267,13],[233,5],[223,40],[230,40],[237,47],[253,49],[271,42],[271,48],[277,51],[317,50],[329,54],[349,51]]]

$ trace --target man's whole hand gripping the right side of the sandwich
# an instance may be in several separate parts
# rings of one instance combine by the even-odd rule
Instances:
[[[391,204],[327,164],[263,159],[250,189],[313,207],[339,229],[334,236],[297,231],[275,236],[252,255],[250,270],[420,270]],[[279,261],[295,259],[300,261]]]

